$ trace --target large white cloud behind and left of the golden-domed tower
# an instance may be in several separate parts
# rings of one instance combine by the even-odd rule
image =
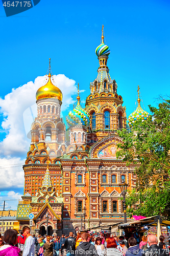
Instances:
[[[2,128],[6,132],[6,137],[0,142],[1,191],[23,187],[24,178],[21,163],[26,160],[31,142],[27,138],[27,134],[30,131],[33,118],[36,117],[35,94],[46,83],[45,78],[45,76],[39,76],[34,82],[30,81],[23,86],[12,89],[12,92],[7,94],[4,99],[0,98],[0,111],[4,116]],[[71,96],[77,93],[77,87],[74,80],[62,74],[54,75],[54,80],[55,85],[63,93],[62,111],[64,111],[70,104],[74,103]],[[25,118],[25,123],[23,118]],[[12,165],[18,163],[20,163],[18,167]]]

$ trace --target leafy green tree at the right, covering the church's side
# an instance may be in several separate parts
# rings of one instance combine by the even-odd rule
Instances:
[[[129,216],[170,215],[170,100],[149,108],[149,120],[118,131],[123,144],[118,144],[117,158],[137,166],[136,189],[126,203]]]

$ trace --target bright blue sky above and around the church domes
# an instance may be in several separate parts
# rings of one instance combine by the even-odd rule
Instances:
[[[10,127],[15,127],[17,118],[23,123],[21,114],[28,108],[28,105],[22,104],[20,114],[16,117],[13,114],[13,119],[10,117],[10,108],[19,104],[16,89],[20,87],[19,91],[23,84],[44,76],[48,58],[51,58],[53,74],[64,74],[76,85],[79,82],[80,89],[85,90],[81,93],[81,99],[85,101],[90,94],[89,83],[96,78],[99,67],[95,48],[100,44],[102,24],[106,44],[111,50],[109,73],[117,82],[117,93],[123,97],[127,116],[134,111],[138,84],[145,110],[149,111],[148,104],[156,105],[155,100],[160,94],[169,95],[169,19],[170,3],[164,0],[106,3],[95,0],[41,0],[34,8],[11,17],[5,16],[0,3],[0,122],[6,119],[6,125],[0,129],[0,141],[4,143]],[[15,95],[10,96],[13,88]],[[64,84],[60,89],[65,90]],[[35,102],[35,92],[30,96],[32,104]],[[73,100],[69,101],[67,109],[63,109],[63,115],[72,109],[76,99],[75,87],[68,96]],[[5,97],[7,99],[4,101]],[[8,100],[11,100],[10,106]],[[142,102],[141,106],[143,108]],[[28,138],[23,140],[30,143]],[[6,148],[0,152],[2,165],[25,161],[28,148],[23,149],[21,141],[20,151],[6,151]],[[18,167],[11,168],[11,175],[15,176],[16,172],[21,175],[21,167],[20,170]],[[21,183],[19,186],[12,182],[6,184],[2,188],[2,198],[5,195],[9,198],[11,191],[22,194]]]

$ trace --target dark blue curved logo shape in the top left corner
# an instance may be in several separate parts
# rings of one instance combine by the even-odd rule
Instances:
[[[6,16],[12,16],[21,12],[25,12],[31,8],[33,8],[34,6],[36,6],[40,0],[30,0],[30,1],[4,1],[3,2],[3,6],[4,6],[4,10],[6,13]]]

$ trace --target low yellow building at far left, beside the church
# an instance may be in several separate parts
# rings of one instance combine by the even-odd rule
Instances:
[[[0,218],[0,232],[4,234],[7,229],[19,229],[19,222],[16,220],[16,216],[4,216]]]

